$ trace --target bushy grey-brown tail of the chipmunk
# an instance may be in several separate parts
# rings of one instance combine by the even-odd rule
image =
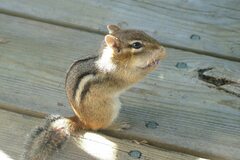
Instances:
[[[76,118],[51,115],[45,122],[32,130],[25,144],[23,160],[47,160],[61,149],[76,130]]]

